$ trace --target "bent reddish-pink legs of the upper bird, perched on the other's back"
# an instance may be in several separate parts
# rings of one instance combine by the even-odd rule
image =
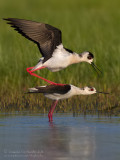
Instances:
[[[35,70],[33,70],[33,71],[30,71],[30,69],[32,69],[32,68],[34,68],[34,67],[26,68],[27,72],[28,72],[30,75],[35,76],[35,77],[38,77],[38,78],[40,78],[40,79],[42,79],[42,80],[44,80],[44,81],[46,81],[47,83],[50,83],[50,84],[52,84],[52,85],[61,85],[61,86],[64,85],[64,84],[60,84],[60,83],[55,83],[55,82],[49,81],[49,80],[47,80],[47,79],[45,79],[45,78],[43,78],[43,77],[38,76],[38,75],[35,74],[35,73],[32,73],[32,72],[34,72],[34,71],[36,71],[36,70],[39,70],[39,69],[42,69],[42,68],[46,68],[46,67],[40,67],[40,68],[38,68],[38,69],[35,69]]]

